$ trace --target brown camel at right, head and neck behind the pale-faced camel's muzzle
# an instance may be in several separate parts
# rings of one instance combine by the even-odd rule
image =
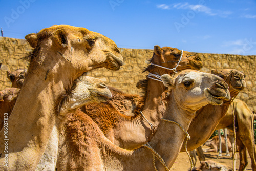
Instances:
[[[232,98],[236,97],[246,87],[244,74],[238,70],[223,69],[220,72],[212,70],[211,73],[220,76],[227,82],[231,99],[224,101],[219,106],[208,104],[196,112],[196,117],[191,122],[190,129],[188,129],[188,133],[191,136],[191,139],[187,143],[189,151],[198,148],[210,138],[212,133],[217,129],[216,127],[219,121],[225,116]],[[211,122],[209,123],[209,121]],[[198,134],[199,132],[200,134]],[[184,144],[182,151],[184,151]]]

